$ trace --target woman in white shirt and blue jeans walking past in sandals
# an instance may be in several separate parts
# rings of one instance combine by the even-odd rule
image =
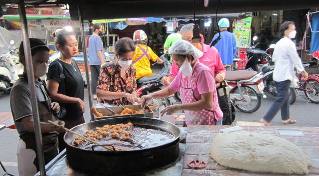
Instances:
[[[277,97],[266,115],[260,120],[265,126],[270,126],[270,121],[281,110],[283,124],[294,124],[297,121],[289,115],[289,87],[293,80],[296,68],[298,73],[302,73],[308,78],[300,57],[298,56],[295,43],[291,40],[296,37],[296,26],[293,21],[285,21],[280,25],[280,39],[276,43],[272,60],[275,62],[273,79],[277,88]]]

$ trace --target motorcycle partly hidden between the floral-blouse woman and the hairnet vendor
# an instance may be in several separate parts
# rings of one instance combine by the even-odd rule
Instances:
[[[165,86],[161,83],[161,78],[164,76],[168,76],[170,71],[170,62],[167,60],[167,55],[165,54],[162,54],[160,56],[160,59],[163,61],[160,73],[155,76],[146,76],[137,80],[137,92],[140,97],[165,88]],[[157,63],[158,62],[155,62],[153,65]],[[156,110],[158,110],[160,106],[166,107],[173,104],[174,102],[177,102],[178,99],[176,98],[176,96],[177,94],[171,95],[167,98],[154,98],[150,101],[150,104],[155,104]]]

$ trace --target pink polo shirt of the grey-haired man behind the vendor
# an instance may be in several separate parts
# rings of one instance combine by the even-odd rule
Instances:
[[[223,66],[223,63],[221,61],[219,52],[215,47],[209,47],[206,44],[201,43],[203,46],[203,56],[200,57],[198,60],[200,63],[206,65],[211,69],[213,72],[214,77],[220,72],[220,71],[226,71],[226,69]],[[168,76],[175,77],[178,72],[178,67],[175,64],[175,60],[173,60],[173,63],[171,64],[170,73]]]

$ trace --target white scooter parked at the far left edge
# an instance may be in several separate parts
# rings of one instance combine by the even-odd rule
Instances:
[[[18,75],[23,73],[23,65],[16,56],[18,48],[11,49],[14,40],[10,41],[9,52],[3,52],[0,56],[0,95],[10,92],[12,85],[19,79]]]

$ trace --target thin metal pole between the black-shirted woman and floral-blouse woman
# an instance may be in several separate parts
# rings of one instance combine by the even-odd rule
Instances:
[[[83,17],[82,17],[82,9],[81,6],[78,5],[78,11],[79,11],[79,19],[81,23],[81,38],[82,38],[82,48],[83,48],[83,56],[84,56],[84,66],[85,66],[85,75],[86,75],[86,85],[88,87],[88,95],[89,95],[89,104],[90,108],[93,106],[92,102],[92,94],[91,94],[91,81],[90,81],[90,75],[89,75],[89,67],[88,67],[88,57],[86,54],[86,45],[85,45],[85,37],[84,37],[84,23],[83,23]],[[95,117],[93,113],[90,111],[91,120],[94,121]]]

